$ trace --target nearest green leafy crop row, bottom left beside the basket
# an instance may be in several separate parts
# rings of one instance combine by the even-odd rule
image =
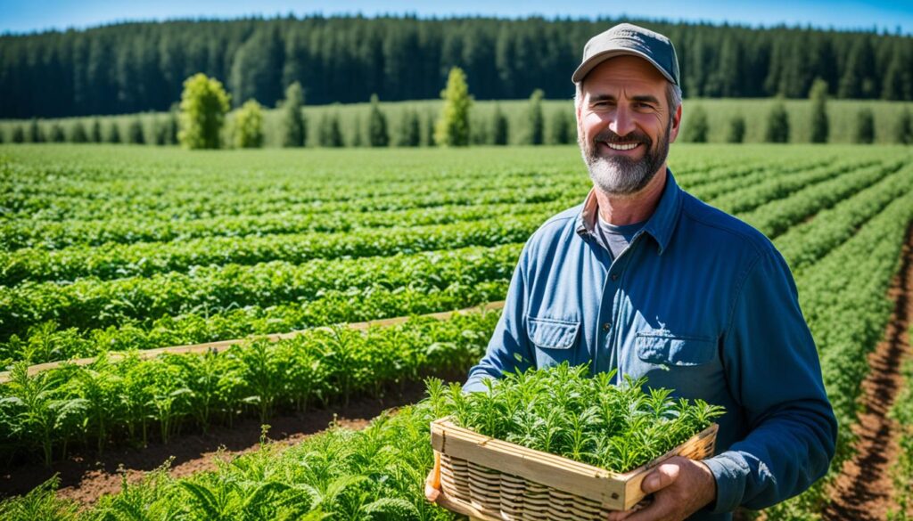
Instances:
[[[9,521],[55,519],[277,519],[278,521],[455,521],[425,500],[425,475],[433,464],[422,402],[384,414],[362,431],[333,428],[287,450],[262,443],[257,452],[215,471],[173,478],[163,467],[142,483],[124,480],[121,493],[90,509],[55,495],[55,481],[29,495],[0,503]]]

